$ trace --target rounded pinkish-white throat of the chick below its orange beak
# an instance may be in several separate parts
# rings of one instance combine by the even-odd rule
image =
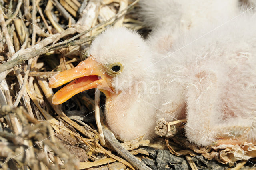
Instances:
[[[143,107],[142,100],[150,100],[146,92],[136,90],[136,85],[112,94],[106,98],[105,118],[109,128],[117,138],[123,141],[132,140],[146,134],[150,139],[154,134],[156,121],[154,108]]]

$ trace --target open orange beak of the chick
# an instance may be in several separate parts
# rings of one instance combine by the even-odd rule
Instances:
[[[49,81],[50,88],[56,88],[71,80],[73,81],[54,94],[52,103],[62,104],[75,94],[92,88],[111,91],[110,86],[108,86],[110,76],[105,74],[105,69],[102,64],[92,58],[87,58],[75,68],[55,74]]]

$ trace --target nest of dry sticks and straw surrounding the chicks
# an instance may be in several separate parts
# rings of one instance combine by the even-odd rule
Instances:
[[[138,19],[137,2],[0,1],[0,168],[194,170],[224,169],[229,164],[253,169],[242,159],[230,161],[229,155],[234,154],[221,160],[218,153],[225,148],[198,149],[184,136],[174,135],[180,130],[172,127],[169,133],[167,124],[161,127],[167,135],[160,130],[166,138],[156,143],[142,136],[120,145],[102,122],[104,139],[94,120],[94,110],[99,108],[94,90],[62,105],[51,103],[55,91],[48,87],[48,78],[89,56],[90,43],[108,26],[147,34],[149,30]],[[103,106],[104,96],[98,97]],[[246,147],[251,151],[247,158],[255,157],[254,146]],[[212,156],[213,150],[217,156]]]

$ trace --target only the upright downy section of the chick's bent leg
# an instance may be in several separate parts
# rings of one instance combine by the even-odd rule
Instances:
[[[218,81],[215,72],[205,70],[191,77],[186,88],[186,136],[197,145],[210,145],[215,140],[212,132],[218,116]],[[217,113],[217,114],[216,114]]]

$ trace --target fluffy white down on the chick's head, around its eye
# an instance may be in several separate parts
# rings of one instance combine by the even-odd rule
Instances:
[[[92,42],[90,54],[102,64],[119,62],[124,66],[125,72],[112,78],[113,87],[117,91],[131,86],[125,83],[127,80],[135,82],[142,78],[151,78],[154,72],[154,66],[138,72],[138,68],[152,65],[152,53],[137,32],[126,28],[108,28]]]

